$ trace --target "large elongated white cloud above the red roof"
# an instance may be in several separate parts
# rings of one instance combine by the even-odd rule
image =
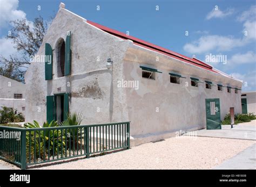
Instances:
[[[186,52],[192,54],[200,54],[205,52],[211,52],[216,50],[220,51],[230,51],[234,47],[245,45],[245,41],[241,39],[235,39],[233,37],[223,37],[221,35],[207,35],[202,36],[198,41],[193,41],[192,43],[185,44],[183,49]]]

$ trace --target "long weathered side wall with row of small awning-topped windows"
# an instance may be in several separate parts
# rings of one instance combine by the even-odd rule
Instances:
[[[159,57],[157,62],[156,56]],[[141,65],[163,73],[156,73],[156,80],[147,80],[142,78]],[[190,80],[190,77],[195,77],[201,81],[240,88],[242,83],[232,78],[135,46],[126,52],[124,69],[124,80],[139,81],[138,90],[126,88],[131,134],[134,137],[203,128],[206,125],[206,98],[220,99],[221,119],[229,113],[230,107],[234,107],[235,113],[241,113],[240,90],[234,93],[232,89],[228,93],[227,88],[223,88],[223,91],[218,91],[217,87],[206,89],[205,83],[191,87]],[[181,78],[180,84],[170,83],[171,71],[177,71],[186,78]],[[156,108],[159,108],[159,112],[156,112]]]

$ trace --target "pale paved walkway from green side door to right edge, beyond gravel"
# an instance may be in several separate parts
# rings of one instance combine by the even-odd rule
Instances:
[[[238,125],[222,125],[221,130],[198,130],[195,131],[197,136],[231,138],[242,140],[256,140],[256,120]]]

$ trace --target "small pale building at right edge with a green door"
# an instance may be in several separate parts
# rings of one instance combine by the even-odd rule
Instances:
[[[256,115],[256,91],[242,92],[242,113],[254,113]]]

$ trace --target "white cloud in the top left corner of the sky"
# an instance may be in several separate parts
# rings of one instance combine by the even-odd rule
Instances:
[[[17,10],[18,0],[0,0],[0,25],[6,27],[10,20],[25,19],[26,13]]]

